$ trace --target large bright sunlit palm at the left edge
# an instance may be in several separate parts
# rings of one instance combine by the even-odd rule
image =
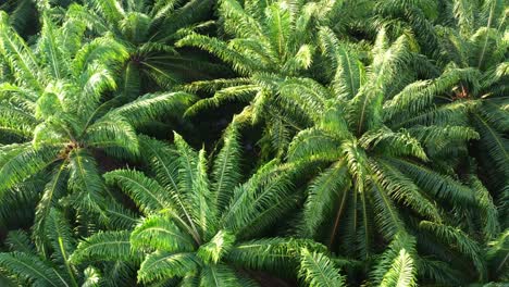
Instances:
[[[0,52],[15,77],[0,86],[0,140],[8,144],[0,146],[0,191],[44,176],[36,229],[55,204],[105,220],[109,197],[96,158],[139,155],[136,127],[166,112],[178,117],[193,100],[184,92],[149,93],[120,105],[110,67],[127,57],[122,46],[108,37],[83,43],[72,22],[57,27],[48,15],[42,20],[30,49],[0,15]]]

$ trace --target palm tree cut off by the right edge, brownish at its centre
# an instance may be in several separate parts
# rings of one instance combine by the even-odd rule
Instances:
[[[509,80],[507,9],[504,1],[452,1],[449,25],[437,26],[440,64],[468,70],[445,95],[446,104],[467,105],[467,121],[480,134],[470,154],[479,162],[479,174],[492,191],[501,219],[509,214]],[[508,227],[507,221],[505,226]]]

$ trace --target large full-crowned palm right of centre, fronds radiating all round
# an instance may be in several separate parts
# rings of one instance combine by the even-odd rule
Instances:
[[[472,260],[481,277],[485,276],[479,244],[449,226],[461,226],[464,219],[480,213],[497,213],[482,185],[474,192],[448,165],[457,154],[464,154],[467,141],[479,135],[464,125],[461,115],[420,110],[425,98],[460,80],[458,71],[413,82],[415,75],[398,73],[412,64],[410,39],[401,36],[388,45],[384,30],[368,67],[330,29],[321,30],[320,40],[336,67],[331,86],[293,78],[282,84],[280,91],[314,121],[293,139],[289,162],[328,166],[309,186],[300,234],[367,262],[380,250],[381,238],[390,241],[396,234],[414,234],[423,252],[434,254],[433,246],[432,250],[422,246],[435,236],[448,244],[472,246],[458,251]],[[415,118],[420,120],[417,124]],[[479,203],[481,197],[485,204]],[[477,208],[479,213],[471,208]],[[445,216],[448,209],[455,214]],[[422,220],[430,224],[421,224]],[[497,216],[486,216],[486,221],[491,227],[484,232],[498,234]],[[481,226],[476,225],[477,230]]]

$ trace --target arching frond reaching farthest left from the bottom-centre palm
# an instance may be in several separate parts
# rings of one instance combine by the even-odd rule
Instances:
[[[132,249],[129,232],[100,232],[80,241],[70,258],[74,264],[90,261],[139,262],[140,253]]]

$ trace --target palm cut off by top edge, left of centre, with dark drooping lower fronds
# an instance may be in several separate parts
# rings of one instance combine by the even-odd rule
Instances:
[[[221,74],[222,68],[204,57],[173,46],[181,29],[207,26],[198,23],[208,18],[212,5],[211,0],[86,0],[71,5],[67,15],[97,35],[112,34],[123,45],[128,57],[122,66],[122,90],[133,100],[158,87]]]

